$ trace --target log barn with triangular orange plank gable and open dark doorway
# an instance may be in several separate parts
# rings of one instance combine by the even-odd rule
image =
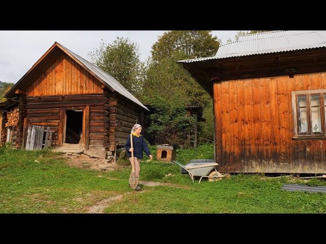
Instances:
[[[16,147],[29,125],[49,126],[55,149],[101,158],[124,146],[148,110],[110,74],[57,42],[5,97],[19,101]]]

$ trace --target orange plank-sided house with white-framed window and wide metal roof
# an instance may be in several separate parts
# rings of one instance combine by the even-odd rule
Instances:
[[[326,31],[242,36],[178,62],[213,99],[219,171],[326,173]]]

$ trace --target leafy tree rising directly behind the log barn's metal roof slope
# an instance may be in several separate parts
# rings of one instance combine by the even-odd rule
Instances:
[[[109,44],[101,41],[100,46],[88,54],[92,62],[116,78],[131,94],[140,93],[144,63],[139,58],[139,45],[119,37]]]

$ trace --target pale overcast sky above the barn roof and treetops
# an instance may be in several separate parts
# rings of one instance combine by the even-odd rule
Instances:
[[[98,48],[101,39],[113,42],[117,37],[139,44],[140,59],[150,56],[152,45],[165,31],[0,31],[0,81],[16,83],[37,60],[59,42],[89,60],[88,53]],[[226,43],[237,31],[212,31]]]

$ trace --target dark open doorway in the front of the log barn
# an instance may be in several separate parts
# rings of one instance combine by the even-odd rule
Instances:
[[[82,144],[83,111],[66,110],[66,141],[65,143]]]

